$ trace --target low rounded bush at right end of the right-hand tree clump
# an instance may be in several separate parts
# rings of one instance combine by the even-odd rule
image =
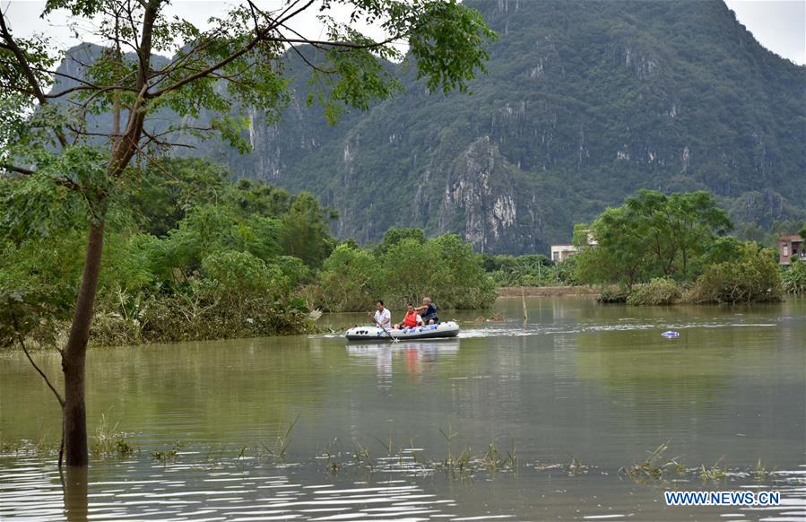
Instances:
[[[783,286],[774,254],[745,243],[735,259],[706,266],[686,299],[697,303],[781,300]]]

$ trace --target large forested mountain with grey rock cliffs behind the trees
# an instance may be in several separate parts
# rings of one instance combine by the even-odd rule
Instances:
[[[429,96],[391,65],[403,95],[327,126],[300,78],[279,126],[245,109],[254,152],[204,153],[314,193],[360,242],[417,226],[547,253],[640,187],[707,189],[765,226],[806,217],[806,67],[762,48],[721,1],[466,4],[499,35],[472,96]]]

